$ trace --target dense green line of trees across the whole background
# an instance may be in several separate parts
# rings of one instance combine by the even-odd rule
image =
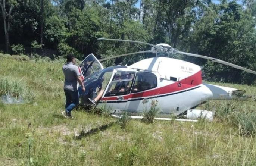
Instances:
[[[0,0],[0,50],[17,54],[20,51],[13,48],[48,48],[82,59],[89,53],[103,58],[147,49],[97,41],[105,37],[168,43],[256,70],[255,16],[253,0]],[[150,56],[123,57],[104,65],[129,65]],[[228,66],[179,58],[204,66],[211,81],[255,81],[253,75]]]

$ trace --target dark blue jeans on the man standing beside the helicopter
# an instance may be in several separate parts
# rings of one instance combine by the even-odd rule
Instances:
[[[66,112],[71,113],[71,111],[79,104],[79,94],[78,91],[65,90],[66,96]]]

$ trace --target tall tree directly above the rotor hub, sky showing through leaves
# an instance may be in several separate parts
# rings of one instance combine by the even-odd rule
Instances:
[[[157,25],[164,28],[174,48],[177,48],[180,39],[190,31],[196,19],[195,0],[156,0]]]

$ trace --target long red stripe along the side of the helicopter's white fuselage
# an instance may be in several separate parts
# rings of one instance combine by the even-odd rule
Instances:
[[[181,84],[179,87],[178,85]],[[175,82],[173,84],[166,85],[160,88],[154,88],[152,90],[142,91],[138,93],[131,93],[127,95],[123,95],[124,100],[128,100],[129,98],[145,98],[152,97],[160,94],[168,94],[175,93],[177,91],[182,91],[188,88],[192,88],[202,84],[202,72],[201,70],[194,75],[191,75],[185,79],[180,80],[179,82]],[[117,100],[117,97],[103,97],[101,100]]]

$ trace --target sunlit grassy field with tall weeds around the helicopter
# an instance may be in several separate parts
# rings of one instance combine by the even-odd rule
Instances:
[[[64,119],[63,62],[17,59],[0,56],[0,94],[9,88],[29,100],[0,103],[0,165],[256,165],[253,98],[200,106],[216,110],[213,122],[131,120],[122,129],[116,119],[81,108]]]

